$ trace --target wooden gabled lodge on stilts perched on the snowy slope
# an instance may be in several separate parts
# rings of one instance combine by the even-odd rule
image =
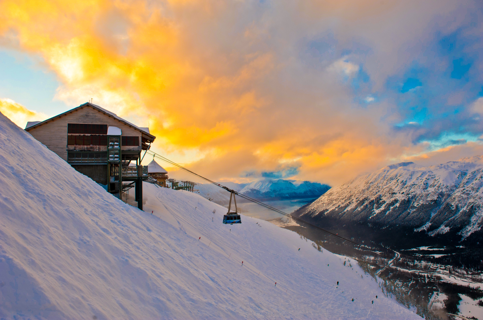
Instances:
[[[156,139],[148,128],[86,102],[50,119],[28,122],[25,130],[108,192],[121,198],[124,188],[135,185],[136,200],[142,199],[148,167],[140,165],[141,153]],[[131,161],[135,167],[129,166]],[[138,207],[142,209],[142,201]]]

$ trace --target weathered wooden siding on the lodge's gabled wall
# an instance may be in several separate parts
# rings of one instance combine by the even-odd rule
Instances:
[[[121,129],[122,135],[141,137],[141,132],[139,132],[137,129],[134,129],[132,126],[126,125],[114,118],[113,116],[89,106],[85,106],[81,109],[67,113],[60,118],[48,121],[41,126],[37,126],[31,129],[27,128],[26,131],[30,133],[35,139],[43,143],[50,150],[57,153],[60,158],[67,161],[68,123],[107,124],[108,126],[118,127],[119,129]],[[141,138],[139,140],[141,141]],[[107,147],[105,148],[107,149]],[[141,147],[138,148],[133,146],[126,146],[122,147],[122,149],[140,150]]]

